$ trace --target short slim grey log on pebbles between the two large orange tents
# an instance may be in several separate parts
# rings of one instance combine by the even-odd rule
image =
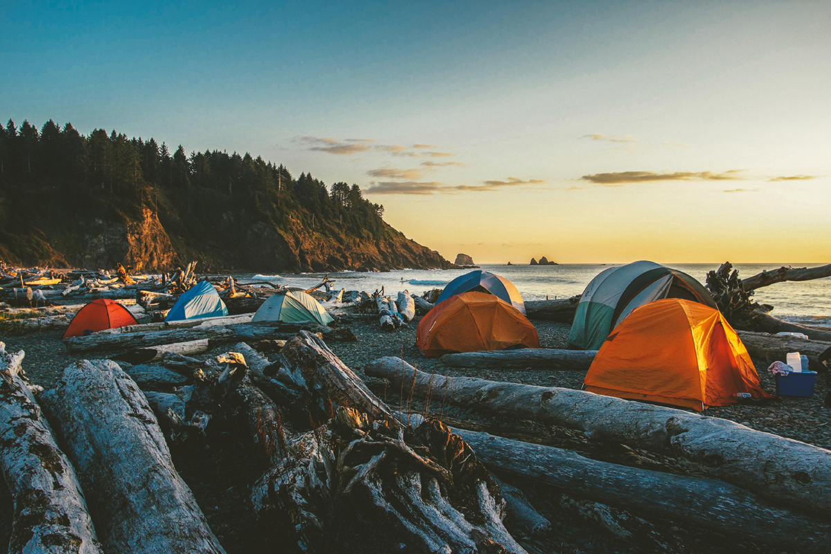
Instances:
[[[521,348],[514,351],[463,352],[445,354],[441,363],[450,367],[483,370],[576,370],[588,371],[597,351],[569,351],[556,348]]]

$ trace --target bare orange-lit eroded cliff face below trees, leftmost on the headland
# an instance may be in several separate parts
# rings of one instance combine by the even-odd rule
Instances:
[[[170,237],[147,208],[136,222],[94,220],[84,229],[83,244],[78,259],[69,260],[79,267],[116,267],[121,263],[140,272],[170,269],[176,262]]]

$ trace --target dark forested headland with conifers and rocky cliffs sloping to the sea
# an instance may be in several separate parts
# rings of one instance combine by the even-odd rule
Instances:
[[[48,120],[0,125],[0,261],[207,272],[455,267],[396,231],[357,184],[282,164]],[[470,258],[469,258],[470,259]]]

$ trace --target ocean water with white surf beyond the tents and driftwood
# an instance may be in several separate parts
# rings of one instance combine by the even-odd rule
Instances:
[[[701,284],[706,280],[707,272],[718,268],[718,264],[677,263],[666,264],[680,269]],[[751,277],[763,270],[772,270],[782,266],[814,267],[823,263],[740,263],[734,267],[740,278]],[[602,264],[561,264],[558,266],[506,266],[483,264],[485,271],[507,277],[519,290],[525,300],[543,300],[549,298],[572,297],[580,294],[597,273],[610,265]],[[464,275],[466,269],[403,269],[391,272],[334,272],[329,277],[334,279],[337,289],[347,291],[366,291],[370,294],[384,287],[387,294],[408,290],[422,293],[431,288],[443,288],[455,277]],[[294,287],[313,287],[322,278],[322,273],[302,273],[299,275],[244,275],[240,282],[268,281]],[[780,282],[755,292],[755,301],[771,304],[771,312],[785,321],[809,325],[831,326],[831,277],[804,282]]]

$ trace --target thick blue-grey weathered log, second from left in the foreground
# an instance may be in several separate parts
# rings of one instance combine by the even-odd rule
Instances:
[[[111,360],[81,360],[41,400],[107,552],[224,552],[170,459],[155,415]]]

